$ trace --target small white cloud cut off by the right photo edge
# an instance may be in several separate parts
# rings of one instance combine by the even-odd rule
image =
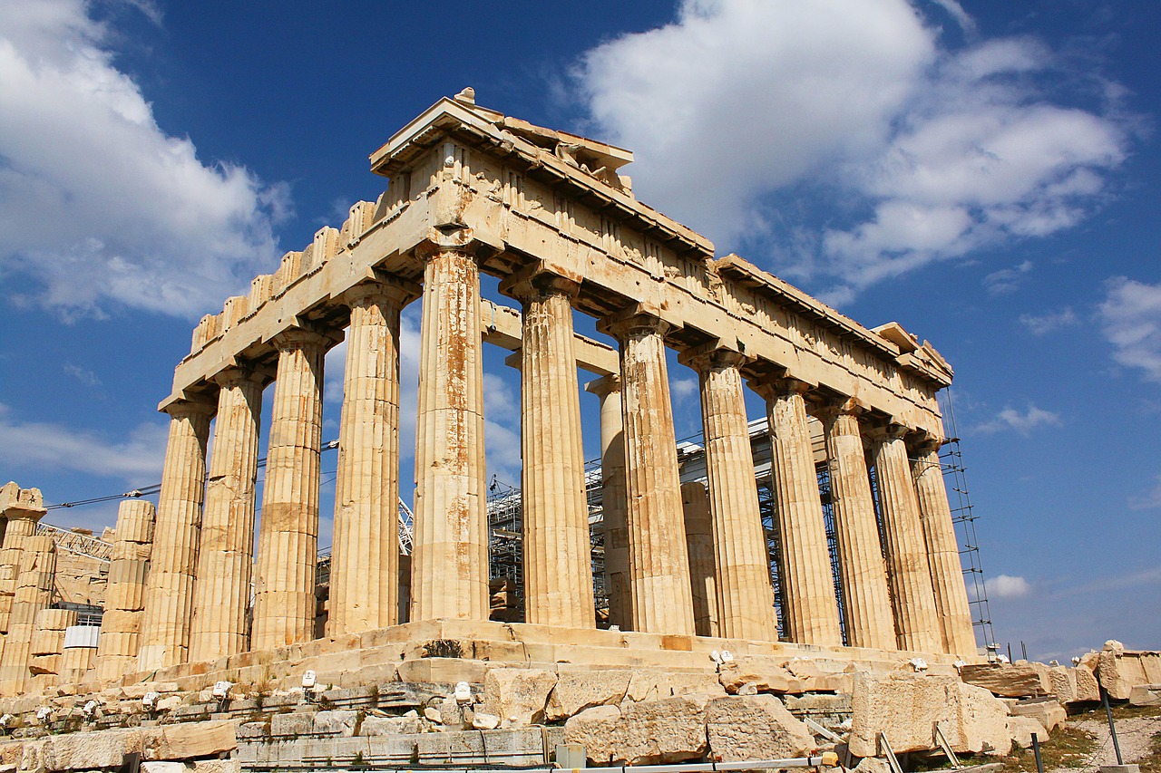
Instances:
[[[1112,344],[1112,359],[1126,368],[1140,368],[1148,381],[1161,382],[1161,284],[1110,279],[1097,318]]]

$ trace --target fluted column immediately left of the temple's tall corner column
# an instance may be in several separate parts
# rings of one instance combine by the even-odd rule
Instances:
[[[403,281],[348,290],[347,363],[334,479],[327,635],[399,622],[399,312]]]

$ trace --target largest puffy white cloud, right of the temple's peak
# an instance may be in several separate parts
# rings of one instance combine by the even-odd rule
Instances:
[[[974,30],[958,2],[935,5]],[[642,198],[719,243],[774,236],[776,268],[841,303],[1074,225],[1126,154],[1115,120],[1038,89],[1060,67],[1041,44],[951,48],[932,9],[685,0],[675,22],[589,51],[577,79],[592,130],[636,152]]]

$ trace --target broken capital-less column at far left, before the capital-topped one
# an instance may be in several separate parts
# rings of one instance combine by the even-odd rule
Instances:
[[[0,656],[0,694],[17,695],[29,679],[36,615],[52,602],[57,544],[46,535],[24,541],[3,655]]]

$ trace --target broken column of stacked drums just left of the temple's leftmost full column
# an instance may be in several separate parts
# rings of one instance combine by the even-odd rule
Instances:
[[[117,512],[117,542],[109,564],[104,615],[101,617],[96,650],[96,678],[102,681],[137,670],[156,516],[153,503],[144,499],[123,501]]]

